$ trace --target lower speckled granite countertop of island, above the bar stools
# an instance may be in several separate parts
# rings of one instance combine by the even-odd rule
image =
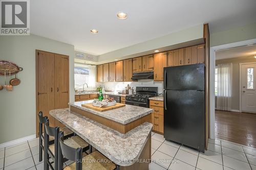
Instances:
[[[50,115],[121,166],[135,163],[133,160],[139,158],[153,127],[146,122],[122,134],[69,109],[51,110]]]

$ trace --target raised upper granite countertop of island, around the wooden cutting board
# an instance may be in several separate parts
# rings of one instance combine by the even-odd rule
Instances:
[[[153,109],[133,106],[133,105],[125,105],[124,107],[109,110],[109,111],[104,111],[104,112],[96,111],[96,110],[81,106],[82,104],[92,103],[92,102],[93,100],[75,102],[75,103],[70,103],[70,106],[114,120],[115,122],[118,122],[124,125],[130,122],[133,122],[134,120],[153,112]]]

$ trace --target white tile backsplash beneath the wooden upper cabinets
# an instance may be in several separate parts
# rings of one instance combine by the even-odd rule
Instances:
[[[97,82],[96,86],[104,85],[105,90],[111,90],[113,92],[118,92],[124,90],[124,88],[129,84],[133,87],[134,91],[136,87],[158,87],[158,94],[163,92],[163,81],[154,82],[153,80],[139,80],[138,82]]]

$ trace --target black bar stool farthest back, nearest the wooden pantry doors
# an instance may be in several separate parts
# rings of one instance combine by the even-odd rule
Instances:
[[[42,111],[39,111],[38,113],[38,120],[39,120],[39,162],[42,161],[42,151],[44,151],[44,144],[43,144],[43,141],[44,141],[44,132],[46,131],[45,130],[45,127],[44,127],[44,132],[42,132],[42,125],[45,124],[45,121],[48,119],[47,116],[42,116]],[[60,128],[61,131],[64,132],[64,138],[69,138],[71,136],[74,136],[74,132],[72,132],[70,129],[68,129],[67,127],[63,127],[63,128]],[[49,137],[49,144],[53,144],[54,143],[54,137],[50,136]]]

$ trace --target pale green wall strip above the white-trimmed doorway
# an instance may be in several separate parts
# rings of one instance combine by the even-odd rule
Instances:
[[[256,23],[210,34],[210,46],[256,38]]]

